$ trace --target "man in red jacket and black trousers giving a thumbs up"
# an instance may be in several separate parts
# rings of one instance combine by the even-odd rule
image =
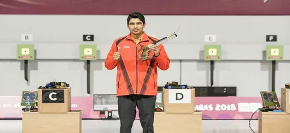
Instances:
[[[118,114],[120,133],[130,133],[139,110],[143,133],[153,132],[155,101],[157,95],[157,68],[169,68],[170,60],[162,44],[152,45],[157,39],[147,35],[145,17],[140,12],[133,12],[127,17],[130,33],[120,37],[111,45],[105,59],[105,67],[117,66],[116,91],[118,97]],[[150,58],[141,61],[138,52],[142,46],[150,47]]]

